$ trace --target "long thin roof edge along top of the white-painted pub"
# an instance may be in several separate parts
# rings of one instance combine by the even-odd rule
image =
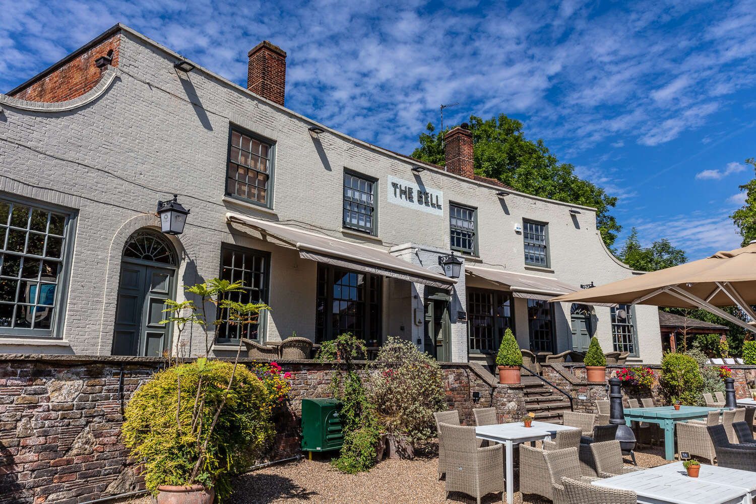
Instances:
[[[143,34],[136,31],[135,29],[129,28],[129,26],[126,26],[125,24],[122,24],[122,23],[116,23],[115,25],[107,29],[105,32],[101,33],[101,35],[95,37],[95,39],[92,39],[91,41],[87,42],[85,45],[82,45],[81,48],[76,49],[76,51],[73,51],[73,53],[69,54],[67,57],[64,57],[62,60],[58,61],[57,63],[54,63],[52,66],[48,67],[46,70],[43,70],[42,72],[38,73],[36,76],[33,76],[31,79],[27,80],[26,82],[23,82],[23,84],[17,85],[11,91],[8,91],[8,94],[13,94],[14,92],[20,90],[24,86],[29,85],[29,83],[34,82],[36,79],[40,79],[41,77],[46,76],[48,73],[51,73],[54,70],[57,70],[58,68],[60,68],[60,66],[63,66],[64,64],[68,63],[74,57],[78,56],[79,54],[82,54],[82,52],[87,51],[89,48],[91,48],[92,45],[102,42],[104,39],[107,39],[107,37],[112,36],[114,33],[118,31],[128,32],[130,35],[135,36],[137,39],[140,39],[142,42],[146,42],[147,44],[153,46],[154,48],[157,48],[160,51],[163,51],[166,54],[169,54],[170,56],[177,58],[178,60],[187,60],[194,65],[194,70],[199,70],[200,72],[206,73],[208,76],[211,76],[213,79],[217,79],[218,81],[222,82],[225,85],[229,85],[232,88],[236,88],[237,91],[241,91],[244,94],[248,94],[250,96],[255,97],[256,100],[261,100],[265,102],[265,104],[268,104],[268,106],[270,107],[289,113],[298,119],[311,123],[312,125],[318,125],[321,128],[323,128],[325,131],[328,131],[332,135],[336,135],[338,137],[344,138],[345,140],[350,141],[355,144],[361,144],[363,147],[367,147],[369,149],[376,150],[388,156],[398,158],[404,162],[412,162],[415,164],[423,165],[426,168],[432,169],[434,172],[438,172],[439,174],[447,175],[448,177],[456,178],[457,180],[465,181],[467,183],[477,184],[479,187],[486,187],[488,189],[495,190],[497,192],[504,189],[504,187],[501,187],[501,186],[488,184],[486,182],[475,180],[473,178],[467,178],[467,177],[463,177],[462,175],[457,175],[451,172],[447,172],[445,167],[443,166],[434,165],[433,163],[421,161],[420,159],[415,159],[414,157],[407,156],[406,154],[394,152],[393,150],[386,149],[385,147],[380,147],[374,144],[370,144],[370,142],[360,140],[359,138],[351,137],[345,133],[342,133],[341,131],[337,131],[333,128],[330,128],[329,126],[321,124],[320,122],[314,121],[313,119],[310,119],[307,116],[303,116],[300,113],[296,113],[295,111],[288,109],[287,107],[283,107],[283,105],[279,105],[271,100],[268,100],[265,97],[260,96],[259,94],[255,94],[252,91],[249,91],[249,89],[247,88],[243,88],[242,86],[238,85],[236,82],[232,82],[229,79],[226,79],[224,76],[220,76],[217,73],[213,72],[212,70],[208,70],[205,67],[201,66],[200,64],[195,63],[194,61],[188,60],[187,58],[181,56],[181,54],[178,54],[176,51],[173,51],[170,48],[166,48],[166,46],[158,42],[155,42],[153,39],[150,39],[149,37],[144,36]],[[522,196],[524,198],[529,198],[529,199],[537,199],[539,201],[553,203],[560,206],[568,206],[570,208],[575,208],[575,209],[588,210],[594,213],[598,212],[597,209],[592,206],[578,205],[577,203],[567,203],[564,201],[559,201],[558,199],[549,199],[549,198],[544,198],[541,196],[534,196],[533,194],[522,193],[521,191],[512,189],[510,187],[507,187],[506,189],[510,191],[510,193],[515,194],[516,196]],[[612,255],[612,254],[610,253],[609,255]]]

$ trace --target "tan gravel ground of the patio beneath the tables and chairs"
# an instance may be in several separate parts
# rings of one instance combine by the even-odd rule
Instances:
[[[636,453],[638,465],[654,467],[662,465],[662,447],[644,447]],[[626,458],[629,462],[629,459]],[[344,475],[332,468],[329,459],[289,462],[272,465],[258,471],[248,472],[237,478],[236,491],[229,502],[232,504],[435,504],[437,502],[476,502],[475,499],[452,493],[444,500],[444,481],[436,479],[438,462],[435,457],[417,457],[414,460],[387,459],[370,472]],[[536,496],[525,496],[522,501],[515,494],[518,504],[547,504],[550,501]],[[149,504],[149,497],[128,501],[129,504]],[[501,502],[489,495],[483,502]]]

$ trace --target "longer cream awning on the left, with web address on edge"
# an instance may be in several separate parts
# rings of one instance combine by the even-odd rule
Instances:
[[[299,256],[312,261],[333,264],[365,273],[380,274],[407,282],[423,283],[440,289],[451,289],[457,280],[434,273],[422,266],[404,261],[389,252],[370,246],[327,237],[323,234],[295,229],[247,215],[227,213],[231,223],[252,227],[262,237],[273,237],[283,245],[299,250]]]

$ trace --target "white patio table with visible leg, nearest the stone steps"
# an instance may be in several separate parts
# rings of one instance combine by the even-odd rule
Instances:
[[[527,443],[528,441],[550,439],[556,431],[569,431],[574,428],[569,427],[569,425],[535,421],[531,427],[525,427],[522,422],[511,422],[498,425],[482,425],[475,428],[476,438],[504,444],[504,451],[507,453],[507,504],[514,502],[513,446],[515,444]]]

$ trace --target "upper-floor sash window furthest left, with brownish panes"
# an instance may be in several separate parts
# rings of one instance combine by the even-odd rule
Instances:
[[[270,207],[274,144],[232,127],[228,140],[226,194]]]

